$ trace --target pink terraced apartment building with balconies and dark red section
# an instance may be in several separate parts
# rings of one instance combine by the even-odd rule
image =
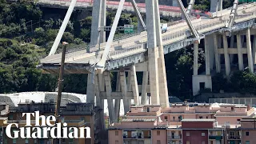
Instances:
[[[185,102],[171,104],[169,108],[131,106],[131,110],[121,122],[110,126],[109,143],[248,143],[248,139],[251,138],[248,134],[254,134],[254,132],[244,131],[243,129],[246,128],[242,128],[241,122],[254,122],[254,119],[251,119],[253,117],[254,108],[245,105]],[[246,126],[246,123],[244,125]],[[250,140],[250,143],[252,142],[254,141]]]

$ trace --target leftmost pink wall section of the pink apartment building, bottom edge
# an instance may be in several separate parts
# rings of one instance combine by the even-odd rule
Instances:
[[[118,135],[116,135],[116,131],[118,131]],[[118,141],[118,144],[122,144],[122,130],[108,130],[109,134],[109,144],[115,144]]]

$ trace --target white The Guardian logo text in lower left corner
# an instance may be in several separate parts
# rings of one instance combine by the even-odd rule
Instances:
[[[50,132],[50,138],[91,138],[90,127],[66,127],[66,122],[56,122],[56,118],[53,115],[47,118],[44,115],[39,115],[39,111],[34,113],[22,113],[22,117],[26,115],[26,126],[20,127],[18,123],[10,123],[6,126],[6,135],[9,138],[48,138]],[[31,125],[31,117],[34,116],[34,126]],[[40,125],[40,121],[41,125]],[[54,124],[52,124],[54,122]],[[11,134],[11,128],[18,128],[13,130],[14,134]],[[79,130],[79,136],[78,136]],[[86,137],[85,137],[86,130]]]

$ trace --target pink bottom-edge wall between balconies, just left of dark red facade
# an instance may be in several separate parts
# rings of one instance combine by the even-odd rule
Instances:
[[[160,131],[159,135],[158,131]],[[158,141],[160,141],[161,144],[167,143],[167,130],[152,130],[152,144],[157,144]]]

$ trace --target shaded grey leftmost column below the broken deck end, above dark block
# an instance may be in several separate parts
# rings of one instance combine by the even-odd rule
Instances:
[[[87,75],[86,102],[94,102],[94,74]]]

